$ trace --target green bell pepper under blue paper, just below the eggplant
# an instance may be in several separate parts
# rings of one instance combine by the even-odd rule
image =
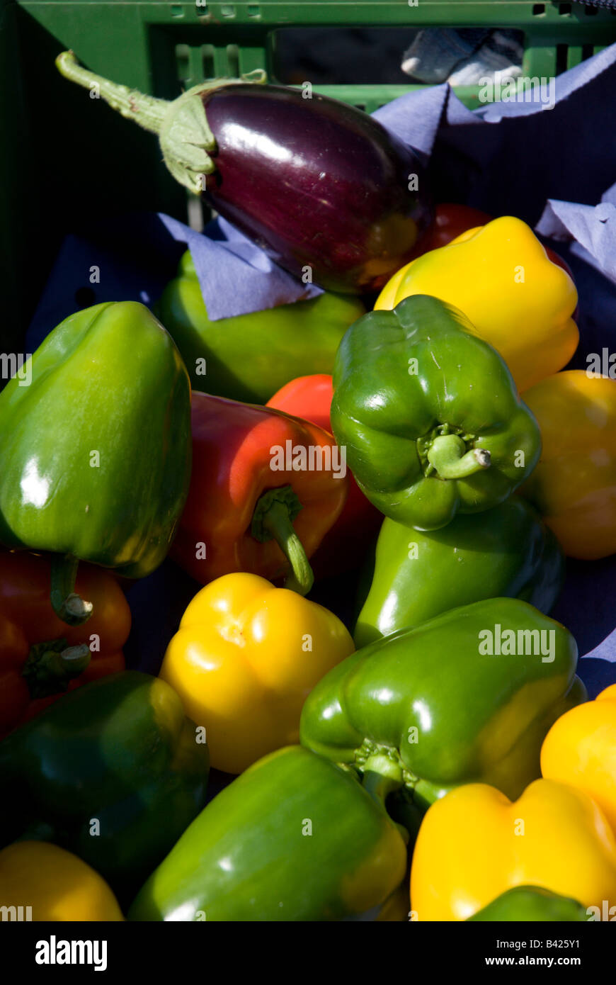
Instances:
[[[357,297],[326,293],[211,321],[186,252],[155,310],[196,390],[265,404],[297,376],[331,373],[340,339],[365,307]]]

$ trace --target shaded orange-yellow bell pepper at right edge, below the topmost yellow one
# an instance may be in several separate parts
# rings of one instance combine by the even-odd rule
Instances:
[[[570,558],[616,554],[616,380],[567,369],[533,386],[524,402],[543,449],[520,493]]]

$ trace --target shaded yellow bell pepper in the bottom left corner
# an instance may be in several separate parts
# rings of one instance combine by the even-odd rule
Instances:
[[[16,841],[0,851],[0,906],[12,920],[124,920],[98,873],[47,841]]]

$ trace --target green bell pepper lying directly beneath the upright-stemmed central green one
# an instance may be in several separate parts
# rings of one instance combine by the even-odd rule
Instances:
[[[558,541],[516,495],[483,513],[456,516],[441,530],[422,532],[386,518],[355,646],[495,596],[549,612],[564,572]]]

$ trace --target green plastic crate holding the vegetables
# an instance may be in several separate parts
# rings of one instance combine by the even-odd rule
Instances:
[[[186,196],[154,138],[63,80],[53,65],[60,50],[72,48],[93,71],[170,98],[211,75],[265,68],[274,79],[277,32],[284,28],[445,25],[523,31],[530,77],[554,76],[616,41],[614,12],[582,3],[0,0],[1,348],[19,350],[67,231],[135,209],[187,217]],[[315,86],[367,111],[416,88]],[[477,104],[475,89],[459,95]],[[87,270],[85,257],[85,284]]]

